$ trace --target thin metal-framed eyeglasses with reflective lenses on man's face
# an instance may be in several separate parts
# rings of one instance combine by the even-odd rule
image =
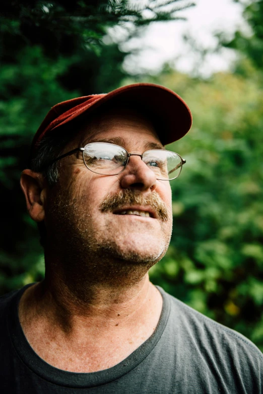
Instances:
[[[50,164],[81,151],[86,167],[96,174],[117,175],[126,168],[130,156],[140,156],[142,161],[155,173],[156,179],[171,180],[180,175],[186,163],[178,153],[164,149],[151,149],[142,155],[128,153],[126,149],[107,142],[92,142],[84,148],[76,148],[53,160]]]

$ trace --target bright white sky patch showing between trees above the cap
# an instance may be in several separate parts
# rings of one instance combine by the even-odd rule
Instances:
[[[224,32],[229,38],[238,28],[249,32],[242,18],[242,6],[233,0],[195,0],[195,4],[195,7],[177,14],[186,17],[186,21],[153,23],[141,38],[123,45],[123,49],[140,49],[136,55],[126,57],[124,69],[131,74],[143,70],[156,73],[166,61],[182,72],[194,74],[198,69],[197,73],[204,77],[229,69],[235,59],[232,50],[223,49],[220,54],[208,55],[201,65],[200,54],[185,44],[182,36],[189,34],[199,48],[215,48],[216,32]]]

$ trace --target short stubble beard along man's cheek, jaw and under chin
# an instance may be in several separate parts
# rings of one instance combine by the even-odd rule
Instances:
[[[138,192],[127,191],[124,194],[117,197],[107,196],[100,210],[105,213],[110,211],[110,202],[116,206],[118,202],[123,202],[123,198],[129,201],[136,199],[137,203],[138,199],[140,200]],[[85,284],[88,287],[101,284],[130,287],[140,282],[149,269],[163,257],[170,242],[171,219],[164,203],[156,195],[157,193],[154,194],[152,204],[159,210],[162,236],[158,239],[158,251],[155,249],[153,252],[148,250],[144,253],[119,246],[118,237],[123,240],[127,234],[118,233],[116,237],[105,237],[105,233],[110,234],[111,228],[98,229],[92,212],[80,211],[80,207],[85,205],[79,200],[66,203],[64,196],[56,195],[49,207],[53,227],[47,236],[45,254],[46,260],[51,261],[47,274],[55,271],[68,287],[74,291],[76,288],[78,291],[82,289],[83,294],[86,292]],[[149,201],[145,202],[146,204],[149,204]]]

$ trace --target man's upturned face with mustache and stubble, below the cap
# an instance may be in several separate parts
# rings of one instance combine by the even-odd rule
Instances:
[[[88,132],[84,130],[79,146],[99,141],[140,155],[148,149],[162,148],[152,123],[131,110],[110,111],[93,121]],[[47,198],[49,242],[63,245],[61,249],[67,255],[75,250],[79,259],[100,256],[136,264],[159,261],[172,230],[169,181],[157,180],[139,156],[130,156],[124,171],[110,176],[88,170],[81,155],[64,158],[60,165],[59,182]],[[105,201],[126,190],[131,190],[128,203],[102,210]],[[133,191],[139,200],[134,200]],[[166,217],[158,215],[151,204],[153,197]]]

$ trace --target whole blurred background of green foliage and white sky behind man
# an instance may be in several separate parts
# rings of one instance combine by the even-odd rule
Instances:
[[[263,1],[2,0],[0,18],[0,293],[44,275],[19,178],[47,111],[153,82],[193,126],[167,147],[187,163],[151,279],[263,350]]]

